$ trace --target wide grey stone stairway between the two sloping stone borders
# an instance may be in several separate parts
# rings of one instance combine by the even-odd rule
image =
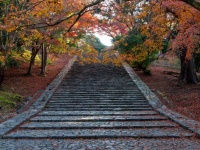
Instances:
[[[7,139],[189,138],[153,110],[123,67],[75,63],[45,108]]]

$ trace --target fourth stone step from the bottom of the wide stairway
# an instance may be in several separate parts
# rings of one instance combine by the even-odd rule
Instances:
[[[156,111],[42,111],[45,116],[132,116],[157,115]]]

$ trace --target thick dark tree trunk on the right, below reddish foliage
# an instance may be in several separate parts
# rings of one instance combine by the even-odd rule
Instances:
[[[197,84],[199,79],[196,74],[194,56],[190,60],[186,60],[186,51],[180,56],[181,59],[181,72],[179,76],[179,83]]]

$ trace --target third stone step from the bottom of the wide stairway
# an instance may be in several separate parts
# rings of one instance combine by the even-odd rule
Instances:
[[[36,116],[30,121],[36,122],[86,122],[86,121],[156,121],[166,120],[167,117],[160,115],[149,116]]]

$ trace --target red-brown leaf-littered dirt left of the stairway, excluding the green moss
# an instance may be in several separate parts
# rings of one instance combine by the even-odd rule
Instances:
[[[33,76],[26,76],[28,70],[28,63],[21,63],[18,68],[10,68],[5,72],[5,79],[3,87],[9,89],[13,93],[18,93],[24,99],[29,98],[30,104],[33,103],[51,83],[56,75],[67,64],[69,56],[57,56],[55,61],[47,66],[47,74],[45,77],[38,76],[40,73],[40,66],[34,66]],[[29,104],[29,105],[30,105]],[[16,109],[11,109],[6,112],[0,110],[0,122],[16,115]]]

